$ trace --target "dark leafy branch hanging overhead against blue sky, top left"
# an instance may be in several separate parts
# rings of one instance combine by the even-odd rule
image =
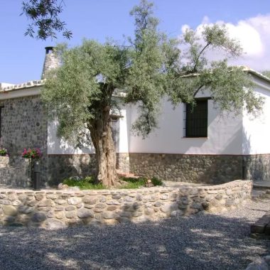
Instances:
[[[66,28],[65,21],[60,20],[63,11],[63,0],[28,0],[22,3],[23,12],[31,23],[28,24],[25,36],[45,40],[56,38],[60,32],[65,38],[72,38],[72,32]]]

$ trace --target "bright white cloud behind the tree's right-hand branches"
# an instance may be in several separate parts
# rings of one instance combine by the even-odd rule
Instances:
[[[197,30],[201,31],[203,25],[210,23],[210,19],[205,16]],[[225,21],[216,23],[225,23],[230,36],[237,39],[244,50],[241,58],[230,60],[229,63],[247,65],[258,71],[270,70],[270,14],[247,18],[235,24]],[[189,28],[188,25],[182,26],[182,32],[187,28]],[[212,53],[212,57],[216,58],[216,56],[217,52]]]

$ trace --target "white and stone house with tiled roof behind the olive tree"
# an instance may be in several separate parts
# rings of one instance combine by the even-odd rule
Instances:
[[[198,93],[192,114],[188,105],[173,109],[164,99],[159,129],[142,139],[131,133],[136,108],[122,109],[121,117],[112,124],[119,171],[186,182],[270,180],[270,79],[254,70],[247,72],[254,80],[254,90],[265,97],[263,112],[257,118],[244,110],[237,116],[220,114],[207,94]],[[39,98],[42,85],[40,80],[0,86],[1,145],[10,152],[10,168],[20,167],[18,156],[23,148],[39,147],[45,182],[92,173],[94,149],[74,148],[57,138],[57,122],[48,123]]]

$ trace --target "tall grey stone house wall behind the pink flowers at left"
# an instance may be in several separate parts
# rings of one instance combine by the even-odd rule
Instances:
[[[9,151],[9,168],[23,171],[23,148],[41,148],[41,181],[47,180],[47,114],[39,96],[18,97],[0,101],[1,146]],[[6,168],[6,171],[8,169]],[[9,174],[9,173],[8,173]],[[11,173],[12,174],[12,173]],[[3,175],[3,174],[1,174]],[[23,173],[18,175],[23,178]],[[1,183],[0,178],[0,183]],[[25,183],[27,179],[21,179]],[[8,179],[6,182],[9,183]],[[13,183],[16,181],[13,180]]]

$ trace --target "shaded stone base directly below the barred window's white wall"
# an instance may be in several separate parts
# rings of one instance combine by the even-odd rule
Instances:
[[[226,183],[242,178],[242,156],[129,153],[130,172],[190,183]]]

